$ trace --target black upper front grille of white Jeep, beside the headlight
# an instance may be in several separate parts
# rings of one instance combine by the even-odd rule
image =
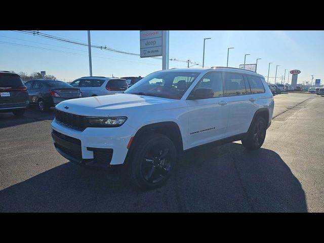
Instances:
[[[56,121],[66,127],[84,131],[86,129],[86,116],[76,115],[55,109]]]

